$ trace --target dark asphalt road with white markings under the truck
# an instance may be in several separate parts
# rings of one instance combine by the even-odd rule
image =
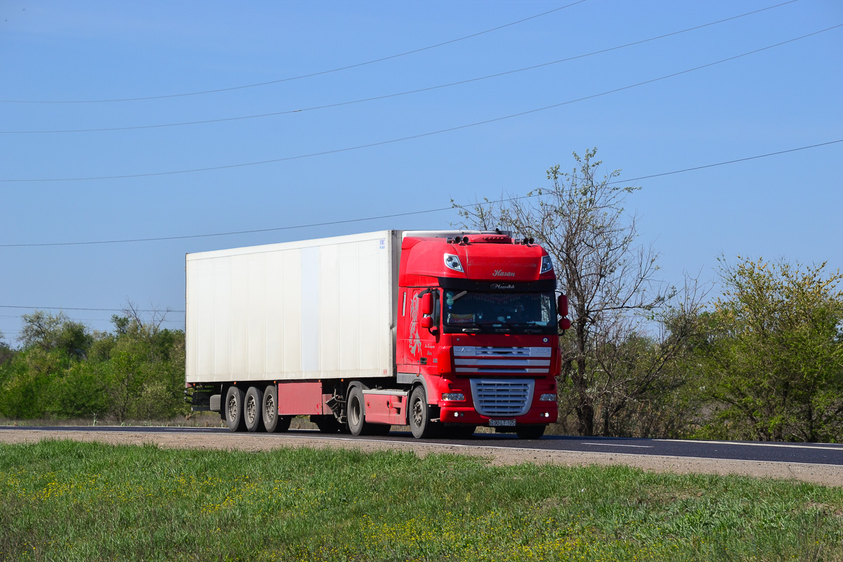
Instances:
[[[3,427],[4,430],[30,431],[131,431],[145,433],[218,433],[230,434],[224,428],[193,427],[137,427],[137,426],[39,426]],[[409,432],[393,431],[389,436],[328,435],[317,431],[291,430],[283,434],[256,434],[260,436],[287,436],[301,439],[319,437],[343,441],[378,442],[428,442],[464,447],[507,447],[513,449],[540,449],[548,451],[596,452],[611,455],[656,455],[684,458],[709,458],[760,461],[770,463],[808,463],[843,466],[843,445],[828,443],[779,443],[779,442],[722,442],[679,441],[671,439],[627,439],[609,437],[544,436],[535,441],[521,441],[512,434],[476,433],[471,439],[414,439]],[[250,434],[242,434],[249,439]]]

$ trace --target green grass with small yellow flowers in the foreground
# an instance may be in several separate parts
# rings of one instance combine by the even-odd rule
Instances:
[[[0,445],[0,560],[843,560],[841,513],[840,489],[633,468]]]

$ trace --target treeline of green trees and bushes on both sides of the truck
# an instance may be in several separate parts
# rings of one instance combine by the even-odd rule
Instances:
[[[572,310],[572,329],[560,338],[560,420],[549,432],[843,441],[841,279],[824,264],[722,261],[719,295],[677,298],[673,290],[633,319],[594,323],[584,349]],[[0,339],[0,417],[119,423],[189,415],[185,333],[162,329],[164,315],[145,320],[130,309],[105,332],[64,313],[22,318],[19,348]],[[577,385],[579,369],[585,385]],[[583,412],[591,431],[583,431]]]

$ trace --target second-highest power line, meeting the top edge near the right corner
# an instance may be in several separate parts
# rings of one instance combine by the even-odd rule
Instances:
[[[0,134],[3,135],[38,135],[38,134],[56,134],[56,133],[82,133],[82,132],[111,132],[111,131],[138,131],[143,129],[161,129],[167,127],[177,127],[177,126],[191,126],[191,125],[207,125],[210,123],[225,123],[228,121],[237,121],[237,120],[249,120],[249,119],[262,119],[266,117],[277,117],[279,115],[292,115],[294,113],[303,113],[306,111],[315,111],[315,110],[326,110],[335,107],[342,107],[345,105],[352,105],[352,104],[362,104],[369,101],[378,101],[380,99],[390,99],[390,98],[397,98],[404,95],[409,94],[421,94],[422,92],[430,92],[432,90],[437,90],[441,88],[450,88],[452,86],[459,86],[462,84],[473,83],[473,82],[480,82],[481,80],[487,80],[489,78],[500,78],[502,76],[507,76],[509,74],[516,74],[518,72],[526,72],[529,70],[535,70],[537,68],[543,67],[550,67],[556,64],[561,64],[562,62],[570,62],[575,61],[577,59],[586,58],[588,56],[600,55],[603,53],[607,53],[610,51],[617,51],[619,49],[625,49],[626,47],[631,47],[635,45],[642,45],[644,43],[648,43],[655,40],[664,39],[666,37],[671,37],[674,35],[680,35],[683,33],[688,33],[690,31],[695,31],[697,29],[703,29],[706,27],[710,27],[711,25],[722,24],[724,22],[732,21],[733,19],[740,19],[745,18],[749,15],[754,15],[756,13],[765,12],[767,10],[771,10],[773,8],[780,8],[781,6],[785,6],[787,4],[792,4],[798,2],[799,0],[788,0],[788,2],[776,4],[774,6],[769,6],[767,8],[761,8],[758,10],[754,10],[752,12],[741,13],[736,16],[732,16],[730,18],[725,19],[718,19],[717,21],[709,22],[707,24],[695,25],[694,27],[690,27],[687,29],[680,29],[679,31],[673,31],[671,33],[666,33],[663,35],[657,35],[655,37],[650,37],[648,39],[642,39],[633,41],[631,43],[626,43],[624,45],[615,45],[614,47],[609,47],[606,49],[601,49],[599,51],[592,51],[589,53],[585,53],[583,55],[577,56],[569,56],[567,58],[558,59],[556,61],[550,62],[543,62],[541,64],[536,64],[530,67],[522,67],[516,68],[514,70],[507,70],[504,72],[497,72],[495,74],[487,74],[486,76],[481,76],[478,78],[468,78],[465,80],[459,80],[457,82],[445,83],[445,84],[438,84],[436,86],[429,86],[427,88],[417,88],[414,90],[406,90],[404,92],[397,92],[395,94],[384,94],[379,96],[373,96],[369,98],[361,98],[361,99],[353,99],[350,101],[343,101],[337,102],[334,104],[324,104],[324,105],[314,105],[312,107],[304,107],[298,110],[284,110],[284,111],[273,111],[270,113],[260,113],[256,115],[239,115],[237,117],[222,117],[218,119],[206,119],[206,120],[195,120],[195,121],[180,121],[176,123],[159,123],[156,125],[137,125],[137,126],[122,126],[122,127],[99,127],[99,128],[87,128],[87,129],[53,129],[53,130],[42,130],[42,131],[0,131]]]

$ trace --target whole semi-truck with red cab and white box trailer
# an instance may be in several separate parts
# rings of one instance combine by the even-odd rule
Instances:
[[[185,269],[185,383],[231,431],[309,415],[354,435],[538,438],[556,421],[567,301],[529,239],[387,230],[187,254]]]

